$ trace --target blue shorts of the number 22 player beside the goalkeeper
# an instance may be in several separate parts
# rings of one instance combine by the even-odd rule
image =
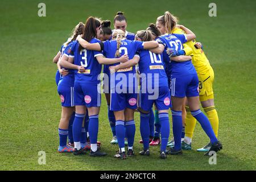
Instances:
[[[197,74],[187,76],[171,76],[171,96],[196,97],[199,96],[199,80]]]

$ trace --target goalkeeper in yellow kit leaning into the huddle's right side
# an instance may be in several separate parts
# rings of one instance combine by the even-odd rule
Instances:
[[[176,17],[173,16],[171,20],[177,21]],[[177,22],[176,22],[177,23]],[[172,28],[173,34],[185,34],[179,26]],[[213,96],[213,80],[214,80],[214,72],[212,67],[210,66],[209,60],[204,54],[203,49],[201,48],[201,43],[196,42],[195,40],[189,41],[185,43],[185,47],[189,47],[190,51],[185,51],[185,55],[192,56],[192,63],[196,68],[197,75],[199,77],[199,97],[201,105],[207,117],[210,121],[210,125],[213,128],[214,134],[216,137],[218,136],[218,114],[216,108],[214,106],[214,96]],[[196,126],[196,119],[191,115],[191,111],[188,106],[185,106],[187,111],[186,119],[185,119],[185,138],[181,144],[183,150],[191,150],[191,140],[193,137],[193,131]],[[168,146],[174,145],[173,140],[168,143]],[[207,152],[211,147],[210,142],[202,147],[197,149],[197,151]]]

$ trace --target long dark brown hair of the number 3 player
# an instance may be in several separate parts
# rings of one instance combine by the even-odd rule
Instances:
[[[96,38],[97,36],[97,30],[96,28],[101,26],[101,22],[99,19],[96,19],[92,16],[90,16],[85,23],[84,30],[82,31],[82,39],[86,40],[87,42],[90,42],[92,38]],[[81,51],[82,47],[79,46],[79,50]]]

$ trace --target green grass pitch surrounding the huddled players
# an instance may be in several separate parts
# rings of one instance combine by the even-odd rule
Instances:
[[[46,3],[46,17],[38,16],[38,4]],[[191,1],[2,1],[0,5],[0,170],[255,170],[256,59],[255,1],[214,1],[217,17],[210,17],[211,0]],[[102,96],[98,140],[105,158],[57,153],[57,127],[61,114],[56,92],[53,56],[73,27],[89,15],[113,21],[124,11],[127,30],[144,30],[164,11],[170,11],[195,32],[215,73],[215,105],[220,118],[223,150],[217,164],[196,148],[208,142],[196,125],[192,151],[159,159],[159,147],[151,156],[138,152],[142,145],[139,114],[135,114],[135,152],[127,160],[113,158],[105,97]],[[113,28],[113,27],[112,27]],[[171,126],[172,128],[172,126]],[[170,138],[172,138],[172,131]],[[38,152],[46,151],[46,164],[38,164]]]

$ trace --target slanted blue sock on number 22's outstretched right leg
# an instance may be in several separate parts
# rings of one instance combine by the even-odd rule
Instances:
[[[210,138],[210,142],[211,143],[218,142],[218,139],[216,138],[216,136],[213,132],[212,126],[210,125],[209,119],[202,113],[202,111],[200,109],[191,111],[191,115],[193,115],[193,117],[196,118],[197,121],[199,121],[204,132]]]

